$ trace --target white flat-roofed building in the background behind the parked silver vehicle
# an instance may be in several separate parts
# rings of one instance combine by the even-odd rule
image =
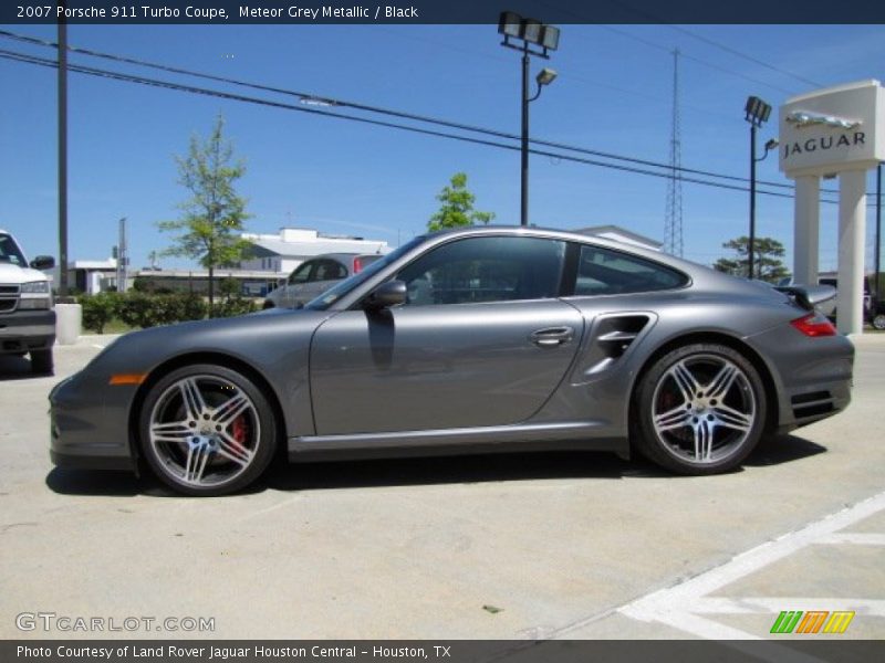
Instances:
[[[330,235],[305,228],[281,228],[279,234],[243,233],[252,243],[252,257],[240,269],[289,274],[315,255],[323,253],[387,253],[387,242],[347,235]]]

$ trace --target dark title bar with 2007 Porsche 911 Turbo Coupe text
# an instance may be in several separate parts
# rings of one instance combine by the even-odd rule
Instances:
[[[11,0],[0,3],[0,23],[497,24],[506,10],[549,24],[885,23],[885,2],[870,0]]]

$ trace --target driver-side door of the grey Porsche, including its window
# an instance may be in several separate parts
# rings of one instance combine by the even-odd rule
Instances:
[[[525,421],[565,376],[583,317],[558,299],[565,243],[455,240],[403,269],[408,302],[326,320],[311,346],[316,433]]]

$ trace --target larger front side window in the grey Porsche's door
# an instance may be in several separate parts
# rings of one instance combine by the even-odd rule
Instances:
[[[434,249],[396,277],[407,306],[541,299],[559,295],[565,242],[482,236]]]

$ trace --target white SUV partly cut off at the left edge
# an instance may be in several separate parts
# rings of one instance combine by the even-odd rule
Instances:
[[[55,311],[46,275],[55,260],[38,255],[28,263],[15,239],[0,229],[0,354],[31,355],[35,373],[51,373]]]

